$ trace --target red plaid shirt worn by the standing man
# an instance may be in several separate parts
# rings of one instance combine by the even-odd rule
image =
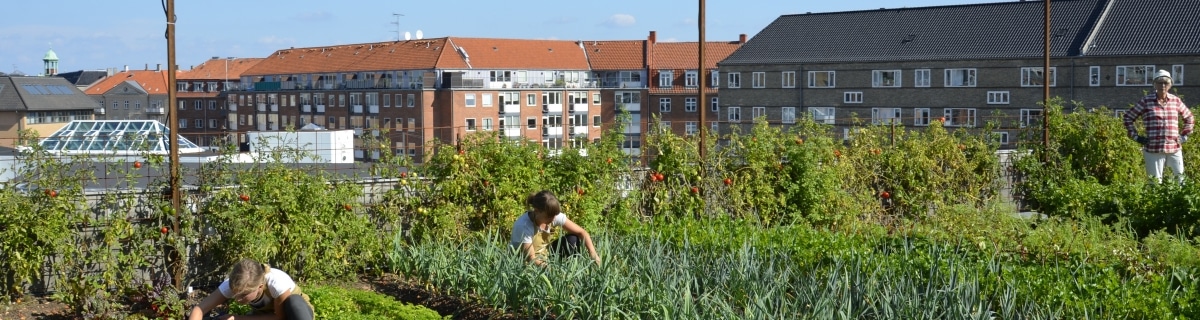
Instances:
[[[1146,125],[1146,152],[1175,153],[1180,151],[1180,135],[1192,133],[1192,110],[1183,101],[1175,95],[1166,93],[1166,103],[1158,103],[1158,95],[1151,93],[1142,97],[1124,115],[1126,131],[1129,138],[1138,135],[1138,129],[1133,122],[1141,117]],[[1180,120],[1183,120],[1183,128],[1180,128]]]

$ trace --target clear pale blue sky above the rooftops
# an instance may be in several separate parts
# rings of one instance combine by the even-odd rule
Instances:
[[[7,1],[0,18],[0,72],[42,73],[53,49],[59,72],[167,67],[166,0]],[[1016,1],[1016,0],[1006,0]],[[415,37],[535,40],[698,40],[698,2],[678,0],[176,0],[175,61],[265,58],[278,49]],[[708,0],[707,41],[736,41],[782,14],[1003,2],[1001,0]],[[402,16],[401,16],[402,14]],[[398,32],[397,32],[398,30]]]

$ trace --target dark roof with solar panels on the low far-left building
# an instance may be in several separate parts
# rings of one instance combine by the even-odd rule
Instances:
[[[0,77],[0,110],[91,110],[97,105],[59,77]]]

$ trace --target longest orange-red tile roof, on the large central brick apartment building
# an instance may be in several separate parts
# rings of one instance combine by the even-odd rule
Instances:
[[[574,41],[444,37],[281,49],[242,74],[436,68],[588,70],[588,62]]]

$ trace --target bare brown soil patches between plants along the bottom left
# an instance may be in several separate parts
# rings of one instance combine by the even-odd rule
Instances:
[[[401,302],[425,306],[430,309],[438,312],[438,314],[443,316],[449,315],[456,320],[540,318],[540,316],[524,316],[512,313],[505,313],[503,310],[497,310],[460,297],[446,296],[437,291],[428,290],[426,289],[425,285],[406,280],[402,277],[395,274],[361,278],[356,282],[340,283],[338,285],[360,290],[373,290],[376,292],[392,296]],[[192,295],[188,297],[188,306],[199,302],[199,300],[203,298],[204,295],[206,294],[208,294],[206,291],[202,290],[193,291]],[[130,308],[131,308],[130,314],[146,312],[146,310],[138,310],[136,309],[137,307],[132,306]],[[71,306],[67,306],[65,303],[50,301],[48,297],[26,296],[24,301],[18,301],[12,303],[0,302],[0,320],[10,320],[10,319],[67,320],[67,319],[78,319],[78,316],[72,314]]]

